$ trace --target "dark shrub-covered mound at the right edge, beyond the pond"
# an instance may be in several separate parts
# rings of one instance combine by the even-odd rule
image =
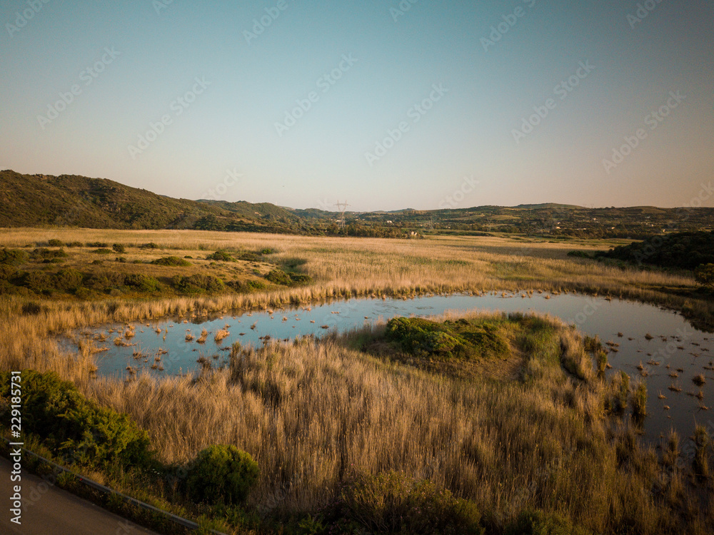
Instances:
[[[633,264],[693,270],[700,264],[714,263],[714,232],[655,235],[642,242],[620,245],[600,256]]]

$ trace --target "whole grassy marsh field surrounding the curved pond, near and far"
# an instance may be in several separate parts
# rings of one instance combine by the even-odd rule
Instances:
[[[508,347],[505,365],[486,351],[483,370],[476,366],[468,375],[451,372],[459,357],[450,354],[450,365],[441,367],[437,350],[411,353],[396,345],[384,325],[317,342],[235,348],[224,370],[163,381],[97,379],[91,347],[63,355],[52,340],[78,327],[202,310],[458,291],[626,297],[681,310],[700,325],[713,324],[712,302],[688,272],[568,256],[571,250],[607,250],[623,241],[0,230],[0,247],[31,252],[47,248],[49,240],[81,245],[64,248],[67,256],[59,265],[36,262],[22,269],[71,268],[85,275],[111,270],[147,275],[158,285],[151,291],[97,290],[84,297],[25,290],[2,297],[0,369],[57,372],[90,399],[129,414],[149,432],[156,458],[167,466],[186,464],[211,444],[233,444],[251,454],[261,469],[245,506],[251,512],[220,519],[221,529],[322,533],[348,526],[387,532],[388,504],[401,504],[399,496],[411,488],[410,481],[423,479],[467,500],[478,514],[466,516],[493,534],[529,532],[518,531],[518,521],[550,525],[547,533],[706,533],[712,528],[710,482],[695,481],[689,467],[668,464],[663,452],[640,447],[635,420],[623,424],[613,418],[636,407],[636,385],[600,380],[578,332],[550,317],[466,318],[475,329],[493,329]],[[101,247],[86,245],[94,242],[109,248],[121,244],[125,250],[100,255]],[[141,247],[147,243],[156,247]],[[233,258],[255,256],[206,260],[218,250]],[[190,265],[151,263],[167,257],[191,257],[186,259]],[[292,273],[301,283],[266,280],[273,270]],[[218,277],[226,285],[186,294],[170,282],[176,275],[196,274]],[[261,284],[248,285],[251,280]],[[491,368],[508,373],[489,373]],[[145,483],[133,473],[93,475],[128,492]],[[161,484],[149,488],[144,498],[196,513]],[[423,520],[423,511],[409,511],[414,526]],[[526,511],[535,512],[528,516]]]

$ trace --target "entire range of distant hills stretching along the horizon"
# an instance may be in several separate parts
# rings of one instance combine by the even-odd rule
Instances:
[[[318,208],[176,199],[103,178],[0,171],[0,227],[176,228],[385,238],[506,233],[632,239],[663,231],[714,228],[714,208],[583,208],[559,203],[466,208],[467,202],[436,210],[347,211],[345,225],[341,225],[336,211]]]

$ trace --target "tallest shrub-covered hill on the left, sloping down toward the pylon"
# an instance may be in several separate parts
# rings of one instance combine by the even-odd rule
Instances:
[[[280,232],[281,218],[294,220],[296,215],[268,203],[240,203],[237,209],[221,203],[175,199],[103,178],[0,171],[0,227],[71,225],[218,230],[231,227],[227,230]]]

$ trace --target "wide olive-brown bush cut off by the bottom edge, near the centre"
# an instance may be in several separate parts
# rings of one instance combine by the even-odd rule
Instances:
[[[481,514],[473,502],[401,472],[348,481],[336,508],[338,517],[372,533],[483,534]]]

